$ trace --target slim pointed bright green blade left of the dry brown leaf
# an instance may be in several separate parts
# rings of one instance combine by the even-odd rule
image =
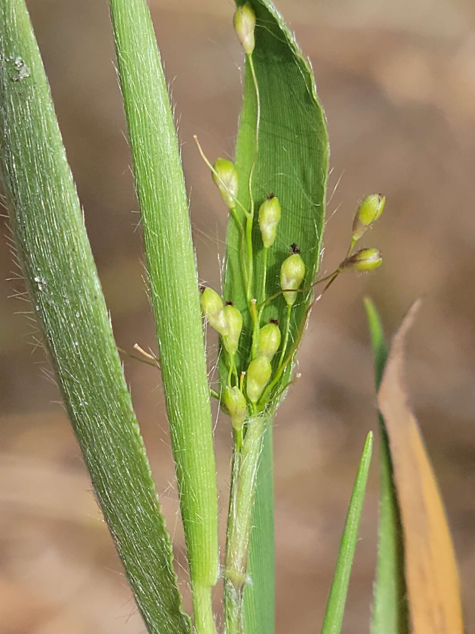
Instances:
[[[336,562],[335,573],[330,588],[330,593],[322,626],[322,634],[339,634],[343,615],[345,613],[346,594],[350,583],[353,557],[358,539],[358,527],[363,508],[368,479],[369,465],[373,446],[373,434],[369,432],[363,448],[363,453],[358,467],[355,484],[353,486],[350,507],[346,515],[345,528],[341,536],[341,542]]]

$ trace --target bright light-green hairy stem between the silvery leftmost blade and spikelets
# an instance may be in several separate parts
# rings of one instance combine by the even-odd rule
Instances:
[[[219,573],[217,487],[184,176],[146,0],[110,0],[110,11],[160,344],[195,627],[213,631],[209,588]]]

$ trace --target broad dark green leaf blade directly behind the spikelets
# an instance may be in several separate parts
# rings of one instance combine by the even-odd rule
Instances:
[[[241,4],[241,3],[238,3]],[[250,3],[257,16],[256,47],[253,63],[260,91],[261,117],[258,157],[253,176],[255,219],[253,255],[255,261],[255,296],[260,301],[263,276],[262,238],[257,210],[269,193],[279,198],[282,207],[276,243],[269,249],[267,296],[279,290],[279,271],[295,243],[307,269],[303,287],[315,278],[319,266],[325,221],[329,145],[323,109],[314,85],[312,70],[302,55],[293,34],[269,0]],[[239,174],[238,198],[250,206],[249,174],[255,157],[257,101],[255,87],[246,61],[243,108],[236,144],[236,167]],[[243,212],[236,209],[243,221]],[[224,299],[233,301],[244,318],[241,340],[241,365],[245,369],[251,346],[251,328],[239,252],[241,238],[231,219],[227,233],[227,259]],[[310,302],[311,292],[302,293],[296,302],[291,324],[291,340]],[[281,296],[265,307],[263,322],[276,318],[285,322],[286,302]],[[277,363],[275,359],[274,363]],[[288,377],[288,373],[286,373]],[[282,377],[281,385],[286,377]]]

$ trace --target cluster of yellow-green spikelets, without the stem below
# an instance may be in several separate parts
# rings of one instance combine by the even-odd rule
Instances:
[[[238,8],[234,16],[234,27],[248,58],[251,57],[255,46],[255,23],[255,13],[250,4],[244,4],[244,6]],[[205,160],[208,163],[207,159]],[[241,222],[236,214],[236,207],[241,207],[244,210],[245,217],[250,219],[251,223],[253,216],[251,212],[244,209],[238,200],[238,171],[236,167],[231,161],[226,159],[217,159],[214,165],[209,163],[208,165],[212,169],[213,181],[219,188],[225,205],[229,208],[232,217],[234,217],[242,231]],[[286,352],[291,310],[295,305],[298,293],[308,292],[315,284],[322,281],[327,281],[327,285],[324,288],[326,290],[339,273],[346,271],[372,271],[382,263],[383,260],[378,249],[361,249],[355,253],[352,253],[352,251],[355,243],[362,238],[365,231],[381,216],[384,202],[384,197],[379,194],[372,194],[364,198],[353,221],[350,249],[348,249],[345,259],[333,273],[317,280],[309,288],[301,288],[305,278],[305,264],[300,256],[298,247],[292,245],[291,255],[284,259],[281,264],[280,290],[271,297],[264,299],[259,305],[257,305],[256,299],[252,299],[252,295],[248,293],[248,309],[250,310],[253,324],[253,340],[250,361],[246,370],[243,370],[239,375],[235,356],[238,351],[241,330],[243,329],[243,316],[232,303],[228,302],[225,305],[222,297],[212,288],[202,289],[201,308],[203,315],[210,326],[219,333],[222,346],[229,356],[229,373],[227,385],[225,385],[222,392],[222,401],[231,416],[232,425],[236,431],[242,429],[249,411],[251,413],[262,411],[266,404],[272,400],[274,396],[272,389],[277,386],[286,366],[293,359],[296,347],[300,341],[296,341],[287,356]],[[267,250],[274,245],[280,219],[281,205],[278,198],[274,194],[270,194],[258,211],[258,225],[264,250],[264,268],[267,264]],[[244,247],[241,248],[243,249]],[[244,254],[241,254],[241,256],[243,268],[245,268]],[[246,277],[245,271],[243,273],[244,277]],[[263,305],[273,301],[280,294],[284,295],[288,306],[284,337],[282,337],[281,329],[276,320],[271,320],[270,323],[262,327],[260,327],[259,323]],[[300,329],[301,332],[303,332],[309,309],[310,306],[303,318],[304,323]],[[274,378],[272,378],[272,359],[279,349],[279,362],[276,365]]]

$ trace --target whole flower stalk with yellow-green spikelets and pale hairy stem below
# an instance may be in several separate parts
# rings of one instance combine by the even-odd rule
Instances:
[[[225,383],[222,384],[221,392],[222,406],[231,417],[234,439],[224,564],[224,611],[227,634],[241,634],[242,632],[243,590],[246,583],[250,581],[247,577],[246,566],[263,432],[265,425],[272,421],[277,400],[288,385],[293,382],[292,377],[289,377],[288,384],[280,385],[282,376],[293,365],[312,306],[331,287],[339,274],[346,271],[371,271],[382,262],[381,254],[377,249],[362,249],[355,254],[352,253],[357,241],[383,211],[384,198],[379,195],[371,195],[364,199],[357,210],[353,221],[350,247],[345,258],[333,273],[312,282],[309,288],[302,287],[306,267],[298,245],[293,243],[289,247],[289,256],[281,264],[280,288],[266,297],[267,255],[276,241],[282,216],[279,198],[275,193],[270,193],[260,205],[257,217],[264,266],[262,280],[255,279],[253,253],[256,247],[253,244],[253,227],[256,219],[252,181],[258,160],[260,126],[259,87],[252,58],[255,24],[255,14],[250,4],[246,3],[239,7],[234,16],[234,27],[247,56],[257,103],[255,157],[250,165],[248,177],[248,209],[238,198],[238,172],[234,165],[226,159],[217,159],[212,165],[195,138],[201,156],[210,167],[213,181],[217,184],[222,199],[230,211],[231,219],[236,222],[241,234],[241,273],[250,317],[250,319],[243,320],[243,316],[232,301],[227,302],[225,306],[224,301],[215,290],[202,288],[201,308],[203,315],[208,323],[219,332],[227,363]],[[237,209],[244,212],[245,228],[239,219]],[[308,295],[315,285],[324,282],[326,285],[322,292],[308,303],[296,331],[295,340],[291,342],[290,324],[298,297],[303,292]],[[255,297],[257,290],[260,294],[259,304]],[[262,323],[264,307],[277,301],[280,295],[284,296],[287,307],[282,332],[277,320]],[[248,353],[241,349],[239,362],[237,362],[236,353],[239,348],[243,323],[248,324],[251,330],[251,346]]]

